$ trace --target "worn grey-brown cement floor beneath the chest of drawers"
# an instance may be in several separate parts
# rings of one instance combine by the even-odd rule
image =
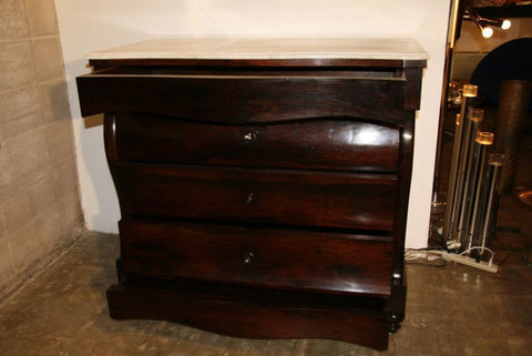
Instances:
[[[510,217],[530,222],[532,211],[523,214]],[[498,251],[498,274],[409,264],[406,321],[378,353],[334,340],[252,340],[112,321],[105,289],[115,281],[117,236],[88,233],[2,305],[0,355],[531,355],[532,268],[522,260],[531,238],[508,236],[498,237],[511,245]]]

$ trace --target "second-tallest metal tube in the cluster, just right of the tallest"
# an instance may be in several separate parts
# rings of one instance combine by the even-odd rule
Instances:
[[[471,216],[471,200],[473,193],[472,170],[474,165],[474,159],[477,152],[477,131],[479,130],[479,123],[482,121],[484,111],[482,109],[470,108],[468,111],[468,124],[466,126],[464,141],[462,142],[463,154],[461,155],[459,166],[459,190],[457,197],[460,205],[457,215],[457,224],[454,226],[454,236],[461,243],[462,246],[469,244],[468,242],[468,224]]]

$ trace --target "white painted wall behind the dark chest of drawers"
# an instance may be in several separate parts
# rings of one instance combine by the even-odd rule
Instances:
[[[88,227],[116,232],[115,191],[102,126],[81,119],[75,77],[83,55],[157,37],[410,37],[430,54],[407,226],[407,246],[427,244],[449,0],[55,0]]]

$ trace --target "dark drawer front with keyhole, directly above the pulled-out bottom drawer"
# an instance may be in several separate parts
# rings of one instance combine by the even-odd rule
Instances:
[[[272,288],[390,294],[386,236],[122,221],[121,269]]]

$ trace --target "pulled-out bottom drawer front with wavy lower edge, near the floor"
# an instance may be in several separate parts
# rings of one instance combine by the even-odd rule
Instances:
[[[390,315],[382,311],[259,302],[241,295],[113,285],[109,312],[115,319],[160,319],[209,332],[252,338],[331,338],[386,349]]]

